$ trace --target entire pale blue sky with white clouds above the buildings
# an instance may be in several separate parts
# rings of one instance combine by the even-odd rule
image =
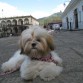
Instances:
[[[42,18],[64,11],[70,0],[0,0],[0,18],[32,15]],[[64,6],[65,3],[65,6]]]

